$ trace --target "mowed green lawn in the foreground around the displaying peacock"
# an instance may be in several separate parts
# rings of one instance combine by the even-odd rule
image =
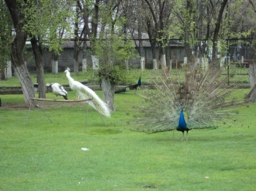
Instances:
[[[1,99],[0,190],[255,190],[256,104],[240,106],[231,127],[191,130],[181,141],[177,131],[129,130],[134,91],[115,95],[107,127],[85,104],[38,102],[43,110],[29,112],[8,107],[23,95]]]

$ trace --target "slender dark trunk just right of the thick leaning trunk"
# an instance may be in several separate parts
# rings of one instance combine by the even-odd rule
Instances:
[[[37,66],[38,97],[45,98],[45,74],[44,63],[42,61],[42,47],[38,44],[38,40],[35,37],[31,39],[31,46]]]

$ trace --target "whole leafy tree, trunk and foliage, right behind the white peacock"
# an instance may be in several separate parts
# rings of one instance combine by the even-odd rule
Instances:
[[[115,87],[119,82],[125,81],[128,70],[128,61],[135,53],[135,45],[123,33],[122,26],[126,20],[113,14],[113,4],[108,9],[102,9],[102,27],[99,38],[94,39],[94,55],[99,59],[99,77],[105,101],[112,111],[114,108]],[[109,15],[108,15],[109,14]],[[108,15],[108,17],[106,17]],[[110,15],[115,15],[111,17]],[[124,64],[125,63],[125,64]]]

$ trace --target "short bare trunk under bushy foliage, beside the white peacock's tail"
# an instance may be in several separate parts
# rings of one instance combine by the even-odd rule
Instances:
[[[109,77],[102,77],[102,91],[105,102],[108,104],[112,112],[115,111],[114,96],[115,96],[115,85],[111,84]]]

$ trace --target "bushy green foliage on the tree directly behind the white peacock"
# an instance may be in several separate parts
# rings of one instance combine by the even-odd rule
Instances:
[[[102,12],[112,15],[110,7],[102,7]],[[101,14],[102,14],[101,12]],[[103,18],[105,18],[104,16]],[[126,22],[123,17],[112,20],[103,19],[105,28],[99,38],[91,37],[91,54],[99,59],[99,77],[108,78],[113,85],[129,82],[124,66],[128,70],[129,58],[135,55],[135,45],[132,39],[122,34],[121,26]]]

